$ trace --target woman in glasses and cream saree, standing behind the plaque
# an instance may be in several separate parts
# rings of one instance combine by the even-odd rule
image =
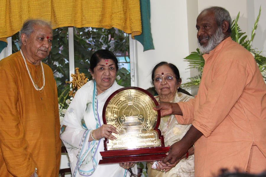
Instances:
[[[152,79],[155,91],[158,93],[158,96],[155,96],[157,101],[177,103],[194,98],[179,91],[183,90],[179,88],[182,80],[178,69],[172,63],[160,62],[155,65]],[[191,124],[179,124],[174,115],[161,117],[159,129],[164,136],[165,145],[172,145],[181,140],[190,126]],[[167,165],[161,161],[147,163],[147,173],[149,177],[194,177],[194,147],[192,146],[184,154],[183,159],[179,159],[175,164]]]

